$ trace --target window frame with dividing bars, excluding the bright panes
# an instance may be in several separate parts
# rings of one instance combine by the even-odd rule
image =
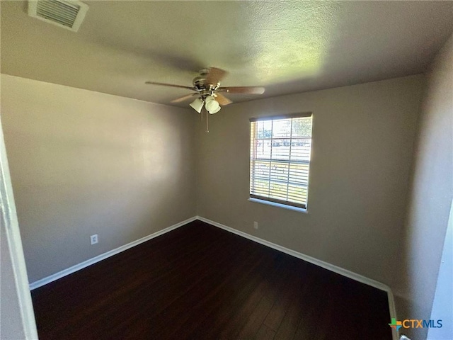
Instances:
[[[265,121],[265,120],[283,120],[283,119],[293,119],[293,118],[311,118],[311,131],[310,131],[310,148],[309,148],[309,161],[306,162],[305,164],[308,165],[308,174],[307,174],[307,180],[306,180],[306,200],[305,204],[303,203],[295,203],[289,200],[280,200],[277,198],[271,198],[268,196],[260,196],[256,195],[256,193],[251,193],[252,191],[252,181],[253,181],[253,161],[259,161],[259,158],[253,157],[254,151],[256,151],[256,146],[253,146],[254,140],[256,140],[256,136],[252,136],[252,124],[260,121]],[[259,118],[250,118],[249,119],[250,125],[249,125],[249,136],[250,136],[250,150],[249,150],[249,157],[250,157],[250,163],[249,163],[249,198],[248,200],[251,202],[256,202],[256,203],[263,203],[267,205],[272,205],[276,206],[279,208],[285,208],[289,210],[296,210],[300,212],[307,212],[308,209],[308,199],[309,199],[309,183],[310,183],[310,168],[311,168],[311,150],[313,148],[313,113],[311,112],[302,112],[302,113],[292,113],[292,114],[287,114],[287,115],[270,115],[270,116],[264,116],[264,117],[259,117]],[[301,138],[306,138],[306,137],[301,137]],[[271,137],[271,140],[273,137]],[[292,135],[289,137],[289,139],[292,139]],[[289,148],[291,150],[291,147]],[[291,151],[289,151],[289,159],[285,162],[288,162],[288,164],[298,164],[297,162],[292,162],[291,161]],[[278,162],[278,160],[276,160]],[[269,162],[271,164],[272,162],[272,155],[270,156],[269,160],[264,160],[263,162]],[[283,161],[280,161],[283,162]],[[301,163],[302,164],[302,163]],[[289,170],[288,170],[289,171]],[[270,176],[269,176],[270,179]],[[289,185],[289,180],[285,182],[286,186]]]

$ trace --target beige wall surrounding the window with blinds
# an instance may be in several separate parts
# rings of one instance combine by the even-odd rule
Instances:
[[[227,106],[197,135],[197,213],[391,283],[423,76]],[[248,118],[313,113],[308,213],[248,202]],[[253,221],[259,229],[253,229]]]

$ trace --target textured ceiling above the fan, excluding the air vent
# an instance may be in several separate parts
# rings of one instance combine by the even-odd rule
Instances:
[[[263,98],[423,72],[453,30],[453,1],[84,2],[74,33],[0,1],[1,72],[169,104],[188,91],[144,81],[213,66]]]

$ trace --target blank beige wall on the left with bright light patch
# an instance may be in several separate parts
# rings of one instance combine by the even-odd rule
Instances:
[[[192,111],[2,74],[1,115],[30,282],[195,215]]]

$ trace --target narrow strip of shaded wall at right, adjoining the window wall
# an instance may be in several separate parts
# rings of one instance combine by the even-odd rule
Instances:
[[[400,234],[402,251],[394,284],[400,319],[430,319],[452,204],[453,36],[432,62],[427,79],[408,219]],[[452,315],[447,317],[452,322]],[[415,329],[411,335],[413,339],[425,339],[427,331]]]

